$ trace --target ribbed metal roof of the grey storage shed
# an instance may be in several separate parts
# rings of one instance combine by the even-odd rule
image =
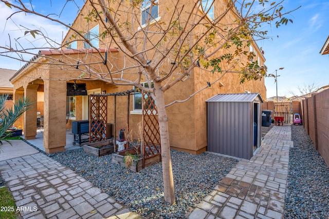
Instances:
[[[228,93],[228,94],[217,94],[206,102],[253,102],[255,98],[259,98],[261,103],[263,99],[259,93]]]

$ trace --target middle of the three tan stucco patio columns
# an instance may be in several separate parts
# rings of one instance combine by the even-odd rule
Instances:
[[[24,138],[25,140],[34,139],[36,135],[36,102],[37,102],[37,89],[39,85],[28,84],[25,88],[25,98],[29,99],[30,109],[24,114]]]

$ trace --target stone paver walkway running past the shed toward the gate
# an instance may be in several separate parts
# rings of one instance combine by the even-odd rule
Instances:
[[[283,218],[290,147],[290,125],[274,126],[252,159],[232,168],[188,218]]]

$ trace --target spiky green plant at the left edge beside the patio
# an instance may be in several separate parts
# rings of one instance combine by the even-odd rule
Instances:
[[[28,99],[22,98],[16,101],[13,107],[5,108],[7,97],[8,94],[0,95],[0,142],[5,141],[10,144],[7,138],[10,137],[11,132],[7,132],[7,130],[12,127],[17,118],[19,118],[26,110],[29,109],[29,106],[32,103],[29,103]]]

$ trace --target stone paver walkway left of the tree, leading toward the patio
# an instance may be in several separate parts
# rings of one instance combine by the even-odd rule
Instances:
[[[0,171],[23,218],[142,218],[42,153],[1,161]]]

